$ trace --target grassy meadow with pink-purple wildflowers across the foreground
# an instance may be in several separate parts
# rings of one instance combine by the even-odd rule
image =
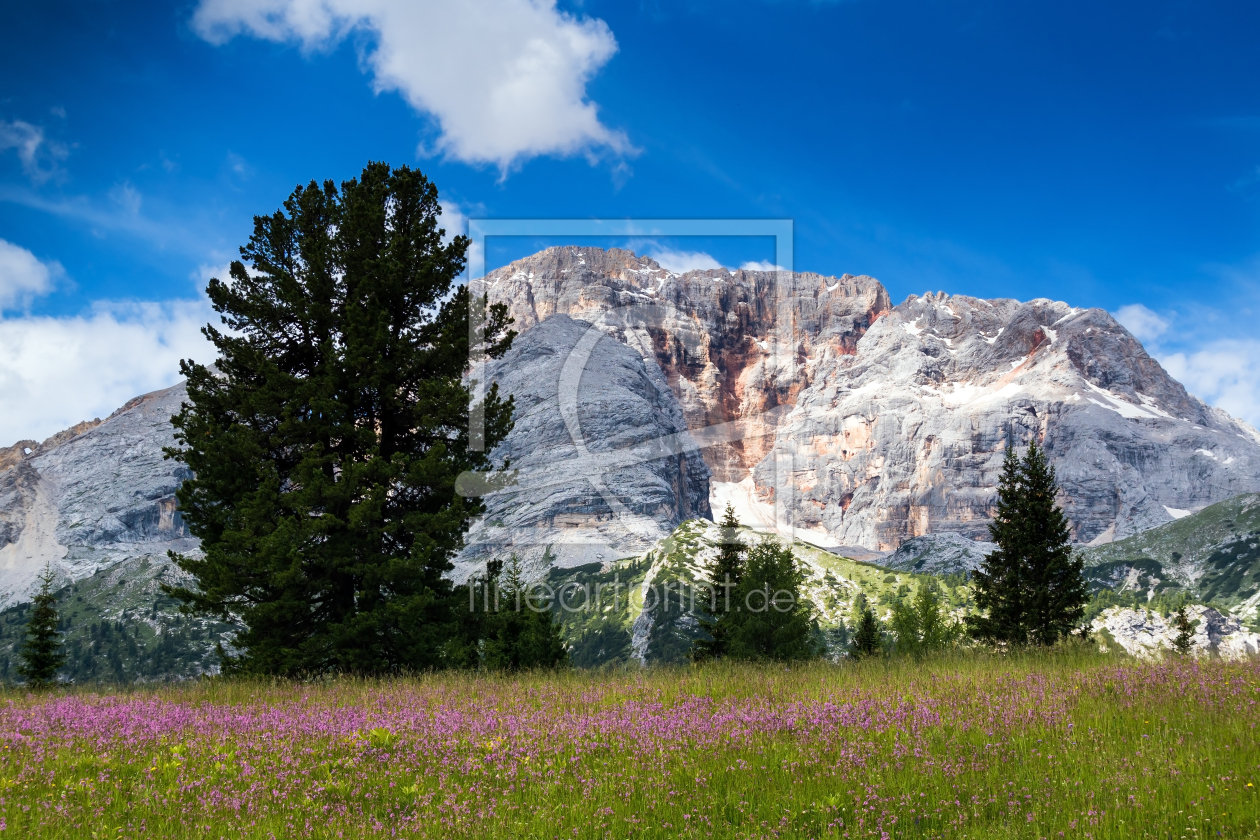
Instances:
[[[925,662],[0,696],[24,837],[1260,837],[1260,664]]]

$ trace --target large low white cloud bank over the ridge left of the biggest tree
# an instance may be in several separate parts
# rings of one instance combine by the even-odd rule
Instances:
[[[74,317],[0,319],[0,446],[42,441],[179,382],[179,360],[210,361],[204,300],[100,304]]]

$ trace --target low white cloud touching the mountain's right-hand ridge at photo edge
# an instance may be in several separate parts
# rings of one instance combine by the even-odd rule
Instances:
[[[1220,339],[1158,358],[1192,394],[1260,428],[1260,341]]]

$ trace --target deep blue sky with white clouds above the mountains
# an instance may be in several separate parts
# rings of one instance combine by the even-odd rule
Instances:
[[[252,215],[369,159],[452,228],[1105,307],[1260,424],[1257,4],[87,0],[0,11],[0,445],[174,383]]]

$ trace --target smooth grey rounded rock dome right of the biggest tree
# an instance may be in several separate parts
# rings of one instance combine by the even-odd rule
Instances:
[[[680,521],[711,518],[708,468],[659,368],[585,321],[552,315],[517,338],[488,380],[515,398],[494,452],[515,486],[485,497],[456,579],[515,553],[548,565],[648,550]]]

